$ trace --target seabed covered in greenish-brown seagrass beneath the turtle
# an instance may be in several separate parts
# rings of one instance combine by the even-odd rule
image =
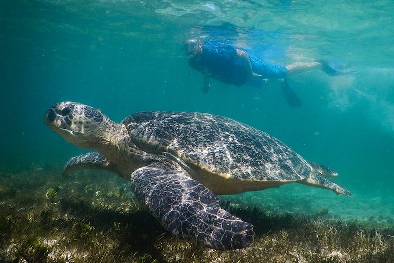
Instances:
[[[43,165],[44,166],[44,165]],[[59,167],[0,173],[0,262],[393,262],[394,220],[344,220],[328,209],[290,213],[222,208],[254,225],[249,248],[215,251],[178,240],[134,197],[128,181]]]

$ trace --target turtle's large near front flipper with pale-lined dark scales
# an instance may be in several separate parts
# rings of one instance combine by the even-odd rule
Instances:
[[[131,186],[164,228],[179,238],[218,250],[253,243],[253,225],[221,209],[219,198],[186,172],[154,163],[134,171]]]

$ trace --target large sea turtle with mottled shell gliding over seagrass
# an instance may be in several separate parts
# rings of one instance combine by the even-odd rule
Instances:
[[[216,195],[301,184],[350,192],[332,169],[308,162],[276,138],[206,113],[146,111],[121,123],[75,102],[48,109],[44,122],[77,146],[64,174],[102,169],[131,178],[135,196],[173,235],[218,250],[245,248],[253,226],[219,206]]]

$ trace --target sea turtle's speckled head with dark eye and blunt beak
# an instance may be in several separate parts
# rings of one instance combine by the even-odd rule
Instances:
[[[68,101],[50,107],[44,123],[68,142],[93,149],[105,143],[108,128],[116,125],[99,110]]]

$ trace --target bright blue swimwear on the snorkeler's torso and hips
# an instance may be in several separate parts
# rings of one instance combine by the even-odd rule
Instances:
[[[249,56],[254,73],[261,78],[283,78],[286,67]],[[228,43],[211,40],[202,44],[202,54],[189,59],[189,65],[224,83],[241,86],[250,77],[250,68],[245,68],[237,57],[236,48]]]

